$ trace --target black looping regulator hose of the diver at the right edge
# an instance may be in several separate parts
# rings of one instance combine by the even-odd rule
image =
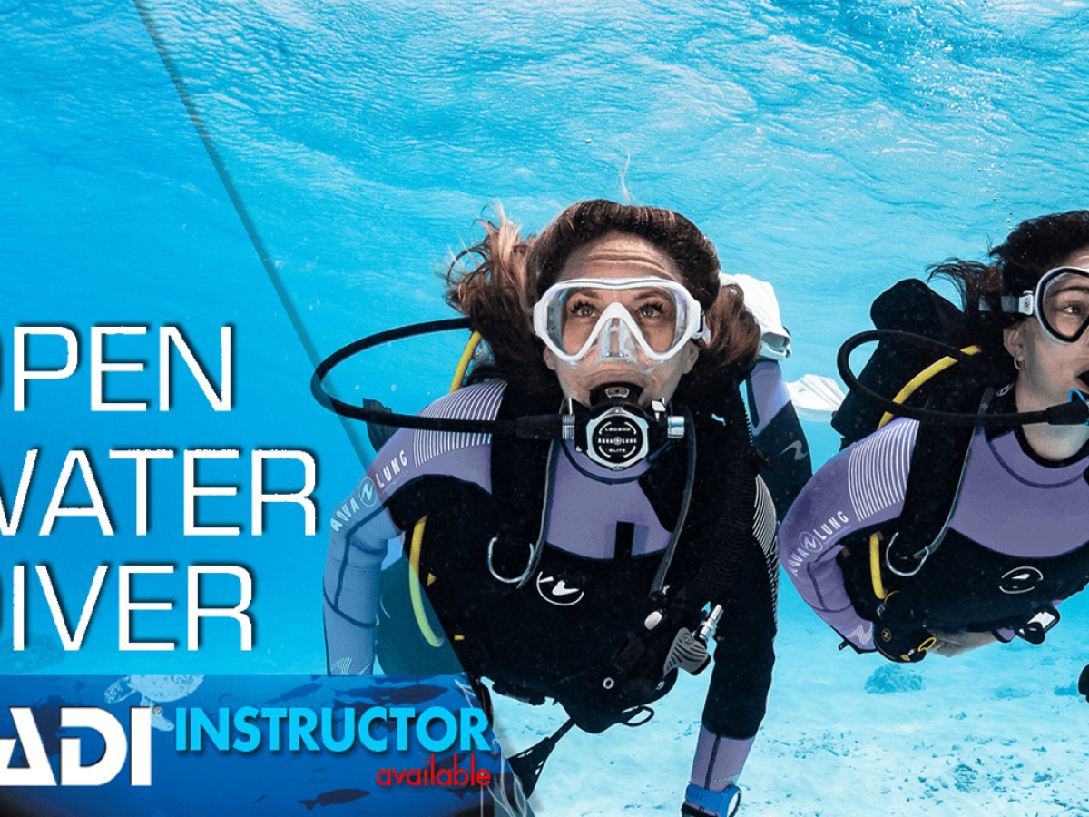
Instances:
[[[900,417],[910,419],[929,419],[940,422],[950,426],[1027,426],[1033,423],[1047,423],[1050,426],[1081,426],[1089,424],[1089,402],[1072,401],[1060,403],[1040,412],[1016,412],[1013,414],[989,414],[980,416],[978,414],[958,414],[954,412],[939,412],[931,408],[917,408],[914,406],[897,403],[889,398],[878,394],[872,389],[864,386],[861,381],[851,370],[851,353],[864,343],[872,341],[893,340],[902,341],[920,349],[929,349],[942,355],[949,355],[957,363],[971,359],[969,355],[962,352],[956,346],[928,338],[925,334],[905,332],[900,329],[871,329],[859,332],[848,338],[840,347],[836,356],[836,367],[840,369],[840,377],[847,385],[851,391],[857,392],[862,399],[883,408],[884,411]]]

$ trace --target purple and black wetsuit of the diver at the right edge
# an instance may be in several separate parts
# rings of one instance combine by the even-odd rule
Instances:
[[[886,537],[896,529],[918,430],[915,420],[895,419],[841,451],[817,472],[780,528],[779,559],[802,598],[859,650],[874,649],[873,624],[852,606],[836,556],[853,534],[862,532],[865,540],[871,529]],[[1085,585],[1087,467],[1089,447],[1052,463],[1031,451],[1019,429],[993,436],[976,430],[949,534],[917,584],[904,588],[923,599],[935,629],[1005,626],[1004,620]]]

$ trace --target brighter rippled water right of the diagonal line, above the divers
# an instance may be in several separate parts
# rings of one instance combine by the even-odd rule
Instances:
[[[489,205],[537,230],[623,184],[831,370],[891,281],[1081,204],[1084,3],[504,5],[148,3],[318,353],[444,315]],[[346,381],[415,407],[450,367],[399,363]]]

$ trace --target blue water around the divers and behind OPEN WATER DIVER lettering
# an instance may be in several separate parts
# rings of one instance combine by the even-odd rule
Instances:
[[[142,599],[176,602],[161,618],[145,613],[136,632],[179,641],[174,651],[117,650],[113,572],[86,646],[56,672],[323,670],[325,520],[371,451],[308,397],[313,359],[448,316],[435,272],[498,206],[527,231],[576,199],[625,190],[681,210],[727,271],[775,285],[794,336],[784,370],[796,379],[833,375],[841,341],[867,327],[870,301],[895,280],[951,255],[980,258],[1018,221],[1086,205],[1086,2],[142,8],[146,20],[107,2],[0,5],[7,509],[26,450],[41,449],[20,533],[3,540],[0,600],[10,564],[47,562],[74,621],[96,565],[178,565],[136,585]],[[110,356],[148,369],[111,376],[109,397],[152,410],[91,413],[90,327],[123,324],[152,334],[111,341]],[[184,379],[176,407],[155,411],[152,338],[163,324],[182,325],[211,363],[219,327],[235,327],[230,414],[212,413]],[[66,381],[32,385],[29,410],[16,414],[12,327],[30,325],[75,329],[83,365]],[[376,352],[335,386],[417,411],[446,388],[463,342]],[[36,349],[46,366],[60,347]],[[818,461],[836,448],[827,426],[807,432]],[[119,447],[176,450],[152,468],[151,536],[135,536],[132,466],[108,455]],[[241,486],[203,505],[207,524],[240,522],[241,536],[180,535],[185,448],[242,452],[201,477]],[[249,534],[254,448],[317,454],[316,535],[291,509],[270,511],[266,535]],[[37,535],[72,449],[90,452],[113,537],[81,519]],[[195,562],[258,576],[253,653],[221,622],[206,625],[199,651],[184,649],[184,565]],[[46,631],[34,592],[29,630]],[[782,607],[782,643],[808,646],[799,634],[810,613],[787,587]],[[1068,607],[1085,621],[1082,601]],[[1062,644],[1076,653],[1085,624],[1064,624]],[[5,607],[0,645],[10,633]],[[832,649],[830,634],[812,633],[815,649]],[[781,667],[805,660],[781,646]],[[1001,655],[980,664],[1002,670]]]

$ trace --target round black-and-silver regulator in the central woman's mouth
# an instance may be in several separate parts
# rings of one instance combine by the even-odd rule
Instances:
[[[684,417],[669,415],[660,400],[645,410],[638,404],[641,392],[631,383],[605,383],[590,392],[589,406],[568,399],[563,438],[599,465],[620,471],[684,437]]]

